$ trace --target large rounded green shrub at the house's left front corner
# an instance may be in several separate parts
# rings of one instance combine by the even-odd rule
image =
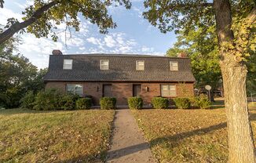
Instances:
[[[59,101],[62,98],[61,93],[56,89],[47,89],[38,92],[35,97],[35,110],[56,110],[60,108]]]

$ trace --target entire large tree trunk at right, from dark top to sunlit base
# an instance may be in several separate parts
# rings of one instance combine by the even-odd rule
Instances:
[[[223,43],[233,44],[229,0],[215,0],[214,9],[220,48]],[[229,133],[229,162],[254,163],[255,147],[246,94],[247,67],[237,60],[232,50],[220,49],[220,57]]]

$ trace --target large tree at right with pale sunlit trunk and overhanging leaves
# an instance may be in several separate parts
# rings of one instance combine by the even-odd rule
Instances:
[[[147,0],[144,16],[160,31],[172,31],[214,20],[225,89],[229,162],[256,162],[246,93],[249,51],[255,51],[256,4],[252,0]],[[232,20],[233,18],[233,20]],[[251,41],[251,42],[250,42]]]

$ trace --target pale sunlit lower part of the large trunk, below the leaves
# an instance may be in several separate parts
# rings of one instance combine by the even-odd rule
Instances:
[[[247,68],[245,65],[235,66],[232,61],[222,62],[221,71],[229,133],[229,162],[256,162],[245,88]]]

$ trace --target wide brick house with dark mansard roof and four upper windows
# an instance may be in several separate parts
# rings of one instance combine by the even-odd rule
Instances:
[[[53,50],[44,78],[46,89],[92,96],[95,105],[103,96],[114,96],[117,105],[141,96],[144,104],[154,96],[193,96],[195,78],[185,57],[81,54],[62,55]]]

